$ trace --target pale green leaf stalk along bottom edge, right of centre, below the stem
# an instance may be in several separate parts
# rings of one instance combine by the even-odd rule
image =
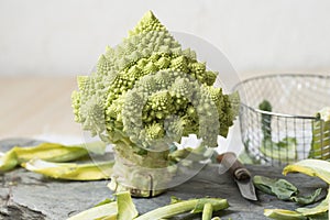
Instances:
[[[202,212],[206,204],[210,204],[213,211],[219,211],[222,209],[227,209],[229,207],[228,201],[226,199],[219,199],[219,198],[190,199],[190,200],[184,200],[173,205],[157,208],[155,210],[152,210],[147,213],[138,217],[135,220],[170,218],[187,211],[191,211],[193,213],[198,213],[198,212]]]

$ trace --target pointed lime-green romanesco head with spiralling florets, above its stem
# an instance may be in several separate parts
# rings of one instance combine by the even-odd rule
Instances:
[[[155,160],[166,161],[164,151],[183,136],[196,134],[209,147],[227,136],[235,96],[213,87],[216,78],[148,11],[127,38],[107,47],[90,76],[78,77],[75,120],[123,158],[163,167]]]

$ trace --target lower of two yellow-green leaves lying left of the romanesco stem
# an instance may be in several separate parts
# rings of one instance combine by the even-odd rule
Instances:
[[[52,163],[42,160],[31,160],[22,164],[28,170],[38,173],[52,178],[69,180],[98,180],[109,179],[114,162],[76,164]]]

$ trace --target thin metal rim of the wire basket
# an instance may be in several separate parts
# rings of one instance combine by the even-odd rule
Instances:
[[[232,91],[238,90],[239,87],[243,86],[244,84],[257,79],[264,79],[264,78],[275,78],[275,77],[310,77],[310,78],[321,78],[321,79],[330,79],[329,75],[315,75],[315,74],[270,74],[270,75],[261,75],[261,76],[255,76],[251,77],[248,79],[244,79],[237,84],[233,88]],[[286,113],[279,113],[279,112],[270,112],[270,111],[263,111],[253,107],[248,106],[246,103],[240,101],[242,106],[245,108],[250,109],[251,111],[257,112],[257,113],[263,113],[263,114],[268,114],[268,116],[275,116],[275,117],[283,117],[283,118],[297,118],[297,119],[310,119],[310,120],[316,120],[317,117],[311,117],[311,116],[299,116],[299,114],[286,114]]]

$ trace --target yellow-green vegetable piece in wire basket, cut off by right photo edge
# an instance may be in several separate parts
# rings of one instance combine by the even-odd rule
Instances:
[[[323,108],[312,122],[310,158],[330,158],[330,107]]]

